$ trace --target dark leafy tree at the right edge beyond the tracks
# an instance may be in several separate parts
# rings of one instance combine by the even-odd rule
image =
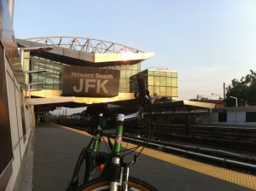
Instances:
[[[237,97],[238,106],[256,105],[256,72],[250,73],[240,80],[234,78],[227,88],[225,103],[227,107],[236,105],[236,101],[230,96]]]

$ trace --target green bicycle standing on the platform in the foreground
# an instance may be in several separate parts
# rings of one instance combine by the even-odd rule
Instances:
[[[137,157],[141,151],[134,155],[134,159],[130,163],[125,163],[124,158],[126,155],[121,155],[124,152],[121,149],[121,143],[123,141],[123,129],[125,119],[138,119],[142,120],[144,115],[144,109],[151,105],[148,90],[144,89],[143,76],[137,76],[137,84],[139,89],[139,95],[135,94],[136,99],[139,102],[139,111],[137,113],[124,115],[118,114],[116,121],[117,127],[114,133],[114,144],[110,140],[111,132],[108,135],[106,130],[101,128],[102,113],[99,115],[98,124],[96,130],[92,132],[92,138],[89,145],[84,148],[79,154],[79,159],[75,165],[73,171],[72,180],[69,182],[67,190],[110,190],[110,191],[157,191],[148,182],[144,182],[136,177],[129,175],[129,167],[134,165],[137,161]],[[104,136],[108,136],[108,147],[111,152],[99,151],[99,145]],[[145,141],[145,143],[147,143]],[[131,152],[136,151],[138,147],[131,149]],[[130,150],[129,150],[130,151]],[[129,153],[128,153],[129,154]]]

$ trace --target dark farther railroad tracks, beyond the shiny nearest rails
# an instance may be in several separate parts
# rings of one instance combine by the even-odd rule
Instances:
[[[142,128],[143,124],[126,126],[127,132],[148,133],[147,129]],[[191,142],[210,147],[224,146],[231,150],[256,153],[256,128],[192,125],[188,135],[183,124],[155,124],[153,139],[163,142]]]

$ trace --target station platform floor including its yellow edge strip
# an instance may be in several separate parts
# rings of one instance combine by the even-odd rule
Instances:
[[[20,190],[65,190],[79,152],[90,141],[86,135],[57,124],[38,124],[26,152]],[[131,167],[131,175],[162,191],[256,189],[256,177],[148,148]]]

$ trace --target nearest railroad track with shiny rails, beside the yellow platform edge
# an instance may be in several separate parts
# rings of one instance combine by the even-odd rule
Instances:
[[[137,144],[144,142],[138,138],[126,138],[125,141]],[[256,158],[212,148],[188,147],[187,145],[177,146],[173,145],[173,143],[168,143],[168,145],[172,146],[167,146],[165,143],[163,144],[163,142],[148,141],[147,143],[147,147],[156,148],[166,153],[175,153],[207,164],[218,165],[235,171],[256,175]]]

